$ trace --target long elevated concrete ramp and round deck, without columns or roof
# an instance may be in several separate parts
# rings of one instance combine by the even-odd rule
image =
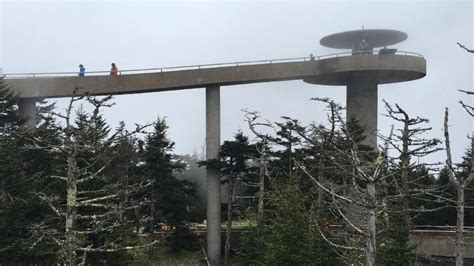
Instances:
[[[269,81],[298,80],[322,85],[347,85],[357,72],[372,71],[379,84],[422,78],[426,61],[405,55],[364,55],[288,62],[230,66],[146,74],[86,77],[8,79],[21,98],[68,97],[78,93],[116,95],[204,88],[210,85],[238,85]]]

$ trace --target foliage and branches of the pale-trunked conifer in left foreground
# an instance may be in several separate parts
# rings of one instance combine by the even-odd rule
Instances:
[[[36,193],[56,219],[32,226],[34,245],[53,242],[58,258],[67,265],[141,245],[131,231],[127,233],[129,222],[124,220],[124,214],[133,206],[127,206],[121,196],[144,189],[145,185],[128,186],[112,174],[120,138],[111,133],[101,114],[102,108],[111,106],[110,98],[86,97],[86,103],[93,108],[91,113],[85,112],[82,105],[76,109],[83,97],[71,98],[65,114],[54,114],[62,123],[49,121],[48,126],[58,134],[55,141],[37,136],[29,145],[31,150],[46,151],[56,158],[53,172],[39,177],[56,183],[56,189],[48,193],[43,187]],[[130,134],[142,129],[138,127]]]

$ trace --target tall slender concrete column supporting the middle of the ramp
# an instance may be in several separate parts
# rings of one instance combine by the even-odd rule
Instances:
[[[206,88],[206,159],[218,159],[221,142],[220,88]],[[221,258],[221,180],[219,171],[207,169],[207,256],[212,266]]]

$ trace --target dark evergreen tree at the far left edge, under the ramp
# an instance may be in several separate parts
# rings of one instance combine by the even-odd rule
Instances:
[[[54,155],[28,148],[33,135],[41,138],[46,132],[43,127],[34,132],[22,127],[17,101],[0,77],[0,263],[53,263],[55,245],[35,245],[30,228],[51,219],[48,207],[32,192],[42,186],[38,173],[53,169]]]

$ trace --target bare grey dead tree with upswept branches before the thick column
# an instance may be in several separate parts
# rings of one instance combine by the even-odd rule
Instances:
[[[334,182],[321,179],[320,176],[316,178],[305,166],[302,164],[298,164],[298,166],[332,199],[336,211],[335,217],[339,217],[340,222],[347,227],[344,237],[356,240],[336,243],[327,238],[324,233],[322,233],[322,236],[331,246],[338,249],[363,251],[365,254],[365,264],[375,265],[377,239],[376,217],[380,209],[380,200],[378,198],[380,193],[377,191],[377,187],[379,187],[381,180],[388,177],[385,171],[387,165],[386,154],[392,139],[393,130],[390,136],[387,137],[381,151],[373,158],[360,150],[359,144],[354,140],[352,132],[347,128],[346,123],[341,118],[340,110],[342,110],[342,108],[328,99],[318,100],[329,104],[329,106],[333,106],[330,108],[334,110],[334,113],[331,115],[334,119],[331,128],[335,128],[335,125],[338,125],[341,131],[332,132],[331,134],[340,134],[340,137],[347,140],[348,143],[345,149],[333,144],[330,149],[322,149],[322,152],[340,173],[349,176],[350,179],[353,180],[352,184],[350,184],[352,189],[348,193],[343,193],[341,187],[338,187]],[[307,140],[310,140],[310,138],[307,138]],[[360,221],[361,217],[363,218],[363,222]],[[365,228],[363,224],[365,224]],[[347,244],[348,242],[356,243],[362,239],[365,240],[365,245],[353,246]]]

